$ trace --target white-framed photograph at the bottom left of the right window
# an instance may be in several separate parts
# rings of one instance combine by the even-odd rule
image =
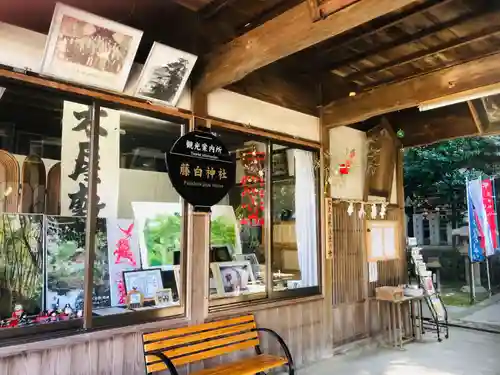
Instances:
[[[240,295],[251,292],[255,285],[252,265],[248,261],[211,263],[217,294]]]

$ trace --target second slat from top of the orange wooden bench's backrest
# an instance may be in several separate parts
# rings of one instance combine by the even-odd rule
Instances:
[[[240,325],[236,325],[236,326],[229,326],[229,327],[224,327],[224,328],[215,329],[215,330],[211,330],[211,331],[201,332],[201,333],[197,333],[194,335],[186,335],[186,336],[176,337],[173,339],[151,342],[149,344],[144,345],[144,351],[146,353],[150,353],[152,351],[163,350],[163,349],[166,350],[166,349],[169,349],[173,346],[187,345],[187,344],[201,341],[201,340],[218,338],[221,336],[231,335],[231,334],[232,335],[241,334],[241,333],[244,333],[246,331],[250,331],[251,329],[253,329],[255,327],[256,327],[255,322],[251,322],[251,323],[240,324]],[[254,333],[254,337],[257,338],[258,337],[257,332],[253,332],[253,333]]]

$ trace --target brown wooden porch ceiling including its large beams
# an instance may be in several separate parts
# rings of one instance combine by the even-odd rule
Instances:
[[[143,30],[139,62],[153,41],[201,56],[200,92],[226,87],[321,112],[325,126],[400,111],[399,122],[422,102],[500,84],[498,0],[65,2]],[[0,21],[47,33],[54,5],[2,1]]]

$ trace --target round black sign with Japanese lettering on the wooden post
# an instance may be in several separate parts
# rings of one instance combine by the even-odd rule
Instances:
[[[211,133],[180,137],[167,153],[168,175],[175,190],[197,211],[209,211],[236,182],[236,162]]]

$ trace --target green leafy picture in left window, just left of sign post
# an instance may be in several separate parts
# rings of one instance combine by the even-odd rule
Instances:
[[[174,251],[180,249],[180,215],[162,214],[147,219],[144,238],[148,249],[148,263],[151,267],[173,265]]]

